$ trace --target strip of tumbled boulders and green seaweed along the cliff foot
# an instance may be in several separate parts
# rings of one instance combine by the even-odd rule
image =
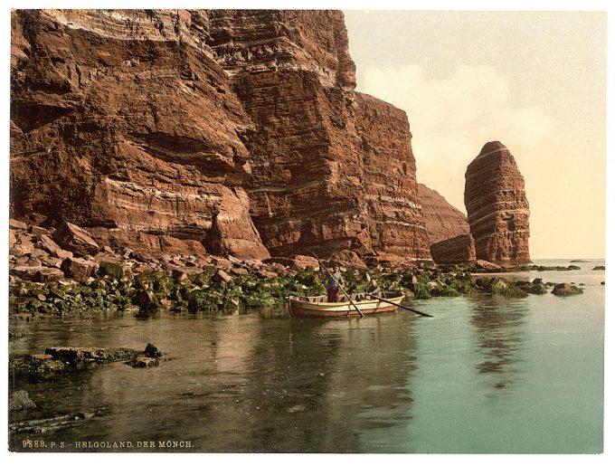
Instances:
[[[154,257],[128,248],[99,247],[77,225],[57,230],[10,221],[9,316],[89,316],[105,311],[133,312],[147,317],[162,310],[217,312],[283,304],[289,296],[325,293],[318,262],[294,255],[264,261],[232,256],[164,254]],[[570,271],[576,265],[535,264],[502,267],[477,261],[468,264],[327,261],[340,265],[346,290],[362,292],[367,274],[383,290],[401,290],[409,300],[439,296],[499,294],[522,298],[553,288],[556,295],[582,293],[572,284],[507,281],[481,273],[504,271]],[[558,286],[556,286],[558,285]],[[10,335],[17,337],[16,335]]]

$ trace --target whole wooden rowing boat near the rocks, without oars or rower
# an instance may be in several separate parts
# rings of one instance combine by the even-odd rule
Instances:
[[[386,292],[381,293],[381,295],[395,305],[368,298],[362,293],[349,296],[355,306],[361,309],[364,314],[395,310],[403,300],[403,293],[399,292]],[[292,317],[358,317],[359,312],[355,309],[355,306],[345,297],[341,297],[338,302],[326,302],[326,296],[291,296],[289,298],[289,313]]]

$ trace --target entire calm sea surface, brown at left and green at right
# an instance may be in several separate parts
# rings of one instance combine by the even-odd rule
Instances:
[[[34,418],[106,410],[14,435],[12,447],[30,439],[45,441],[42,450],[64,442],[63,451],[132,442],[131,451],[162,452],[159,441],[189,441],[191,452],[601,452],[604,271],[591,269],[603,264],[508,274],[584,283],[581,296],[412,302],[433,319],[403,310],[289,319],[266,309],[20,323],[28,333],[10,342],[14,355],[152,342],[169,360],[20,382],[13,388],[38,405]],[[138,448],[144,441],[156,448]]]

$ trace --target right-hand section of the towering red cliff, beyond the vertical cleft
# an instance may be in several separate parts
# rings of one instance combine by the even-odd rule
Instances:
[[[430,259],[408,119],[353,91],[343,15],[217,11],[210,19],[210,45],[256,125],[246,141],[247,191],[270,252]]]

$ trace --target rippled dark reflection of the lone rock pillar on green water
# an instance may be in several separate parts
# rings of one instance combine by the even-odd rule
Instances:
[[[526,300],[506,300],[502,297],[474,300],[471,323],[478,339],[477,351],[482,361],[477,369],[489,376],[489,383],[496,389],[515,383],[519,349],[524,345]]]

